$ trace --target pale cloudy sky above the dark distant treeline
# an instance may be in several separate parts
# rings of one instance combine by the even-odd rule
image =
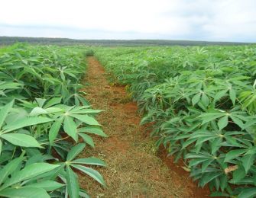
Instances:
[[[3,0],[0,36],[256,42],[256,0]]]

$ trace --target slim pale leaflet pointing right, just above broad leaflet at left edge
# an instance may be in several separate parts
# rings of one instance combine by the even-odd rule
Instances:
[[[16,121],[15,123],[8,123],[3,127],[3,129],[5,133],[8,133],[16,129],[21,129],[25,126],[31,126],[40,123],[49,123],[51,121],[53,120],[47,117],[26,117],[24,119]]]

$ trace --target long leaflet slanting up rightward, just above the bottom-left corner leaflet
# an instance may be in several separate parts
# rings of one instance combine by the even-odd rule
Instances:
[[[5,184],[0,188],[0,190],[10,187],[13,184],[17,184],[22,180],[28,180],[33,177],[37,177],[40,174],[44,174],[48,171],[52,171],[54,168],[59,167],[57,164],[47,164],[47,163],[34,163],[28,166],[25,166],[21,171],[13,174],[12,177],[8,178],[5,181]]]

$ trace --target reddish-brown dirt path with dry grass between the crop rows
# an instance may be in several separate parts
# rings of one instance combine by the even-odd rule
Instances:
[[[177,164],[169,169],[165,158],[157,157],[154,142],[139,126],[137,105],[128,101],[125,88],[110,86],[102,65],[89,57],[85,91],[93,108],[105,110],[99,117],[109,138],[94,137],[96,148],[90,155],[102,158],[107,168],[98,168],[108,187],[100,187],[88,177],[80,183],[92,197],[207,197]],[[162,154],[163,157],[163,154]]]

